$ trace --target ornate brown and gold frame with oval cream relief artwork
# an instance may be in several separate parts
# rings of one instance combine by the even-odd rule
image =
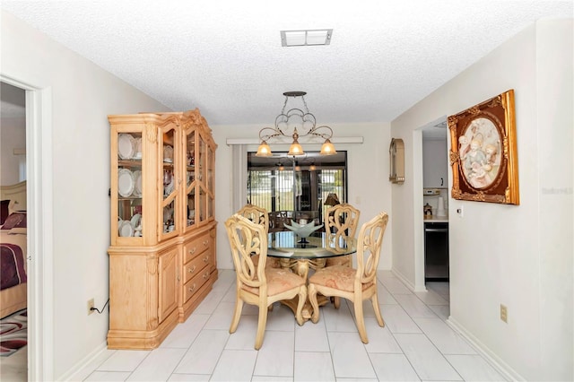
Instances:
[[[452,197],[520,204],[514,90],[448,117],[448,129]]]

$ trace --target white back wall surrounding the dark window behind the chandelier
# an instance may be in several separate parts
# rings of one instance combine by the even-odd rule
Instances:
[[[281,105],[277,105],[278,108]],[[279,109],[277,109],[279,111]],[[269,116],[273,121],[275,116]],[[388,181],[388,145],[390,144],[389,125],[335,125],[317,116],[321,125],[333,127],[334,136],[362,136],[363,143],[335,143],[337,151],[347,151],[347,169],[349,173],[348,202],[361,210],[359,223],[372,219],[377,213],[386,211],[389,221],[393,221],[391,211],[390,183]],[[209,121],[208,121],[209,122]],[[231,147],[226,144],[228,138],[257,139],[259,129],[264,126],[212,126],[213,137],[218,144],[215,154],[215,219],[220,222],[217,230],[217,265],[222,269],[233,269],[230,245],[223,222],[234,211],[231,210]],[[320,144],[305,144],[304,150],[320,150]],[[288,145],[270,143],[275,151],[286,151]],[[257,151],[257,144],[248,146],[248,151]],[[391,268],[392,229],[389,226],[383,239],[379,269]]]

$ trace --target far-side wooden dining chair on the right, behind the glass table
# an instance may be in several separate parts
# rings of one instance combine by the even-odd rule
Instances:
[[[343,203],[329,207],[325,211],[325,230],[337,236],[344,235],[355,237],[361,211],[351,204]],[[326,266],[330,265],[352,265],[352,256],[339,256],[328,258]]]

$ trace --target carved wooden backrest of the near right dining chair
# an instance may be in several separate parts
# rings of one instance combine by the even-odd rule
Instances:
[[[378,213],[377,216],[361,226],[357,238],[357,282],[361,284],[372,282],[377,276],[378,258],[383,235],[387,229],[387,213]]]

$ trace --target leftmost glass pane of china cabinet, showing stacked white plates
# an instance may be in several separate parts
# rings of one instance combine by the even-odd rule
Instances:
[[[112,224],[112,237],[126,239],[143,237],[143,144],[141,131],[119,133],[116,131],[117,146],[117,225]],[[113,188],[113,187],[112,187]],[[113,207],[113,206],[112,206]],[[113,214],[112,214],[113,216]],[[124,239],[126,238],[126,239]],[[141,240],[141,239],[140,239]],[[133,241],[137,244],[137,241]]]

